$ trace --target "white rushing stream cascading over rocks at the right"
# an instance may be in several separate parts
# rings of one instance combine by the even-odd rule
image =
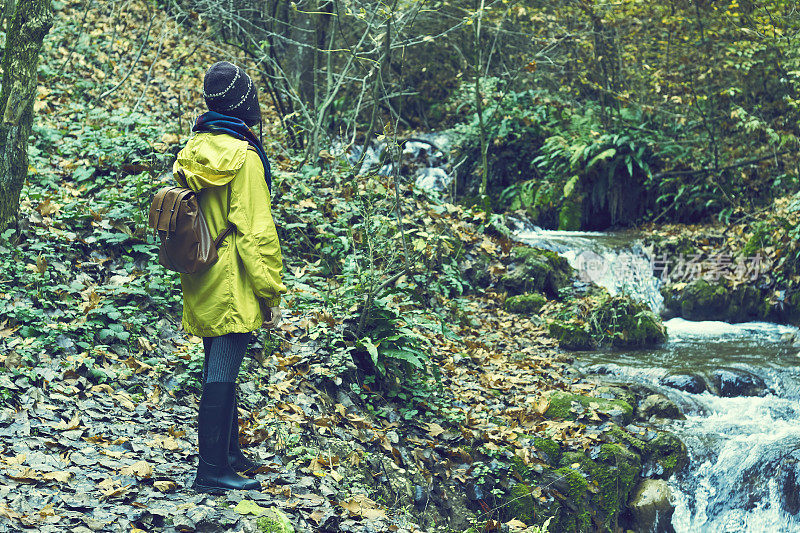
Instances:
[[[545,231],[513,220],[511,226],[518,239],[566,257],[585,281],[612,294],[627,291],[660,310],[660,280],[636,234]],[[576,366],[645,384],[686,416],[660,422],[686,443],[690,455],[689,466],[669,480],[675,531],[800,531],[800,348],[787,342],[800,332],[766,322],[673,318],[665,325],[669,341],[660,348],[581,352]],[[726,375],[745,376],[753,385],[746,392],[762,395],[686,386],[702,384],[698,377],[713,382]]]

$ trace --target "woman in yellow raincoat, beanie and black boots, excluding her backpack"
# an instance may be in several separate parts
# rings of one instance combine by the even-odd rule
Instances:
[[[198,191],[212,235],[236,227],[207,271],[181,274],[183,327],[203,338],[203,394],[198,414],[200,492],[258,489],[258,464],[239,448],[235,382],[252,331],[280,321],[283,267],[270,210],[271,173],[260,138],[257,91],[239,67],[216,63],[203,82],[209,111],[178,154],[173,174]]]

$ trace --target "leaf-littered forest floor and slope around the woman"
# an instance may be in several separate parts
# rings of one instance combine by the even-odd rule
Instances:
[[[596,405],[573,405],[574,420],[545,415],[548,393],[592,395],[600,385],[575,372],[544,320],[507,313],[504,295],[491,290],[452,299],[449,328],[425,333],[439,375],[393,398],[332,372],[316,326],[335,329],[341,319],[293,305],[300,298],[290,294],[277,341],[260,336],[259,346],[279,349],[252,350],[239,380],[242,444],[266,463],[261,490],[211,497],[190,488],[201,341],[179,330],[174,277],[127,251],[152,251],[134,227],[144,226],[152,180],[116,174],[153,165],[131,161],[131,151],[155,148],[168,159],[202,111],[205,69],[238,53],[208,38],[202,21],[189,21],[188,31],[144,0],[100,4],[60,3],[35,104],[43,125],[22,205],[24,241],[16,250],[0,243],[8,265],[0,280],[0,529],[288,531],[287,520],[297,531],[534,531],[504,509],[503,484],[520,479],[512,465],[547,463],[537,439],[582,453],[622,424]],[[160,126],[134,131],[131,111]],[[265,136],[276,170],[289,173],[279,126],[272,116]],[[335,205],[335,177],[306,178],[302,200],[276,198],[279,224]],[[444,224],[502,272],[506,237],[484,233],[474,212],[425,202],[411,201],[434,213],[415,228],[421,239]],[[323,291],[324,276],[310,276],[316,267],[291,249],[284,255],[290,293],[314,280]],[[556,485],[529,496],[563,499]],[[498,492],[484,492],[491,486]]]

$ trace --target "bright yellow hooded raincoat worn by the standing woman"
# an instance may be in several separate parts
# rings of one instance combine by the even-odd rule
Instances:
[[[202,191],[200,208],[212,236],[228,222],[236,225],[209,270],[181,274],[183,328],[198,337],[260,328],[268,308],[280,305],[286,292],[264,167],[247,147],[247,141],[230,135],[198,133],[178,153],[172,169],[182,187]]]

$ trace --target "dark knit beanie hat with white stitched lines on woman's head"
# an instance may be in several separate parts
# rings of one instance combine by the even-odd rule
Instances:
[[[214,63],[203,79],[203,98],[211,111],[240,118],[252,127],[261,121],[258,94],[250,76],[232,63]]]

